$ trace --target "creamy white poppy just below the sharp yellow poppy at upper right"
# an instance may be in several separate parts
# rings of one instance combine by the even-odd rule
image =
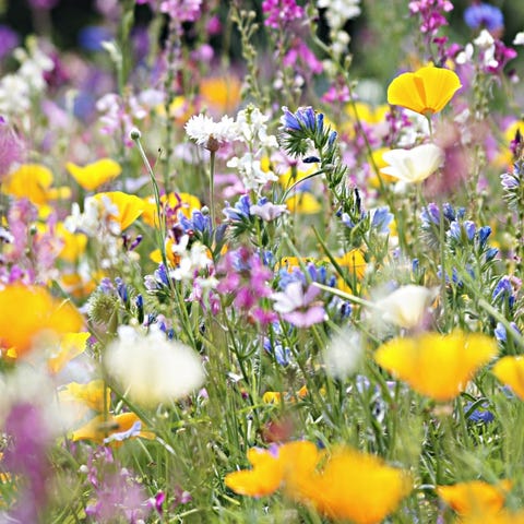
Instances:
[[[382,154],[389,165],[381,172],[414,183],[426,180],[444,162],[444,152],[434,144],[422,144],[412,150],[391,150]]]

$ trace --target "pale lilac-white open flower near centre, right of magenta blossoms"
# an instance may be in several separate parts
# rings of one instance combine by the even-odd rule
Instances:
[[[275,301],[273,308],[282,318],[297,327],[310,327],[325,320],[322,305],[314,299],[320,289],[313,285],[305,286],[300,282],[289,283],[284,291],[274,293],[271,299]]]

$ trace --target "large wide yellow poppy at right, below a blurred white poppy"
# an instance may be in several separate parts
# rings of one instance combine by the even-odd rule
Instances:
[[[455,331],[394,338],[377,349],[374,360],[418,393],[445,402],[464,391],[477,369],[497,353],[492,338]]]

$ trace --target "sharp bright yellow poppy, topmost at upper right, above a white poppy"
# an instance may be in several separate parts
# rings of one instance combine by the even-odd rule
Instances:
[[[429,117],[441,111],[461,87],[455,72],[427,66],[394,79],[388,87],[388,102]]]

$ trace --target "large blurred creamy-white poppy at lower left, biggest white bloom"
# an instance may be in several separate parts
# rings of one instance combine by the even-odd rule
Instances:
[[[145,406],[176,401],[204,382],[199,355],[180,342],[168,341],[159,330],[144,335],[120,326],[118,338],[107,347],[105,365],[122,394]]]

